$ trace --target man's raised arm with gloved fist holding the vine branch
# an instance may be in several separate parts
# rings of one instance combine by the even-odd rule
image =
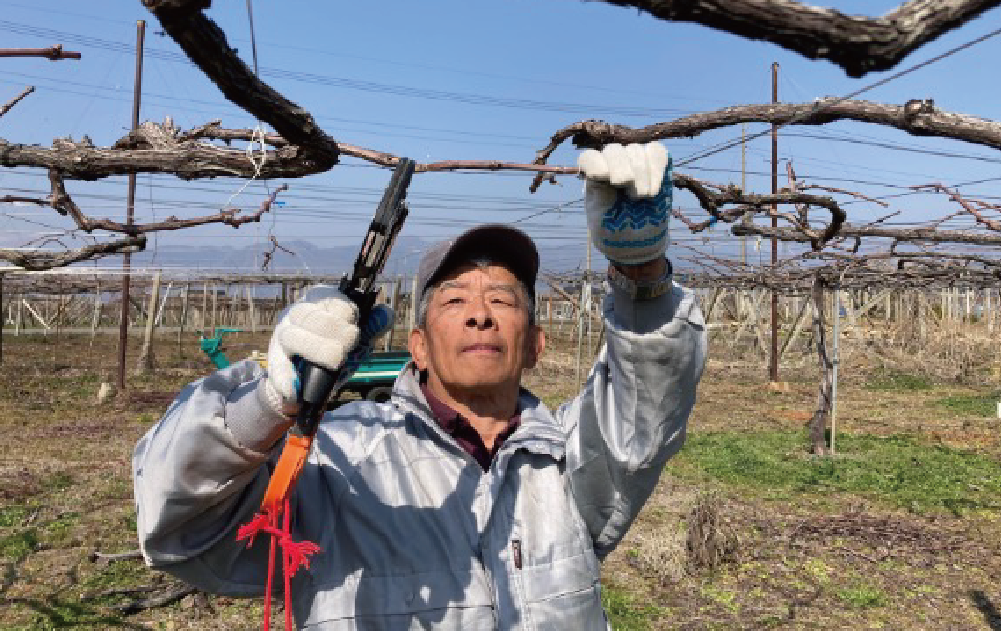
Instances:
[[[665,258],[671,158],[660,143],[608,145],[579,160],[588,223],[612,262],[607,344],[584,392],[560,409],[567,471],[600,557],[611,552],[681,449],[707,338],[694,293]]]

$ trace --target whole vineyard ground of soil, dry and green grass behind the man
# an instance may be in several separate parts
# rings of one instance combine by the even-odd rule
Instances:
[[[265,346],[263,334],[240,334],[230,355]],[[578,375],[573,345],[553,346],[527,385],[555,406],[577,391]],[[185,594],[141,560],[100,556],[136,548],[136,440],[181,386],[210,371],[193,338],[179,348],[165,337],[156,349],[154,376],[130,374],[129,391],[99,405],[100,382],[114,381],[114,340],[5,333],[0,628],[259,626],[259,600]],[[710,362],[689,445],[606,563],[617,629],[1001,629],[1001,421],[982,405],[997,388],[887,381],[864,359],[843,367],[846,447],[828,463],[806,455],[802,435],[816,402],[813,364],[784,366],[788,392],[773,392],[762,363]],[[859,447],[879,437],[884,451]],[[780,445],[775,466],[807,482],[761,483],[768,465],[754,454],[720,452],[745,444]],[[900,454],[917,476],[883,467]],[[845,473],[867,458],[874,480]],[[953,460],[933,470],[939,458]],[[966,486],[949,495],[935,486],[940,470]]]

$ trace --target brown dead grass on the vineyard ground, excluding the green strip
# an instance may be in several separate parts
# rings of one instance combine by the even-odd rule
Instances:
[[[263,349],[267,336],[241,334],[240,341]],[[131,451],[176,392],[209,372],[194,336],[189,342],[181,356],[172,337],[161,341],[160,371],[148,378],[130,375],[127,397],[98,406],[96,386],[114,374],[111,337],[98,337],[91,348],[86,336],[63,336],[58,343],[6,336],[0,365],[0,508],[17,511],[10,513],[9,525],[0,523],[0,538],[30,530],[41,548],[20,561],[0,560],[0,628],[44,628],[60,619],[64,626],[75,620],[77,628],[93,629],[257,626],[259,600],[211,597],[209,608],[191,598],[124,617],[113,609],[122,599],[84,598],[104,590],[163,588],[170,580],[135,560],[101,563],[90,555],[136,546]],[[577,394],[577,354],[566,340],[551,342],[526,385],[556,406]],[[137,351],[133,341],[130,369]],[[789,392],[769,392],[760,358],[754,363],[727,358],[720,348],[711,354],[691,432],[798,429],[812,413],[817,399],[812,358],[790,356],[782,369]],[[862,357],[856,353],[842,365],[840,428],[914,432],[1001,457],[996,420],[934,405],[981,391],[936,383],[926,391],[873,392],[866,388],[867,376],[879,367],[865,366]],[[590,368],[591,359],[584,365]],[[59,473],[68,475],[68,487],[47,484]],[[739,555],[713,571],[696,572],[688,569],[689,520],[707,493],[719,498],[717,523],[733,529]],[[751,497],[712,480],[681,482],[666,474],[603,573],[608,584],[646,606],[641,608],[650,612],[648,628],[992,628],[1001,609],[998,542],[1001,516],[990,511],[920,517],[872,498]],[[859,591],[860,585],[871,591]],[[275,615],[278,628],[280,612]]]

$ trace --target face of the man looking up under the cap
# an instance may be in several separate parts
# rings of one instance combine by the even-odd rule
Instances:
[[[461,265],[444,276],[424,327],[410,333],[410,354],[429,385],[452,396],[517,392],[546,344],[529,324],[527,299],[502,265]]]

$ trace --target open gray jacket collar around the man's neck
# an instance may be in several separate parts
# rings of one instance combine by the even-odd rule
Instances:
[[[450,441],[451,437],[442,430],[431,414],[430,407],[420,392],[417,367],[411,361],[400,372],[392,387],[392,403],[403,412],[419,418],[424,425],[439,437]],[[538,397],[522,389],[519,397],[522,423],[518,430],[505,441],[500,452],[524,449],[526,451],[552,456],[562,460],[567,453],[567,436],[563,428],[553,418],[553,414]]]

